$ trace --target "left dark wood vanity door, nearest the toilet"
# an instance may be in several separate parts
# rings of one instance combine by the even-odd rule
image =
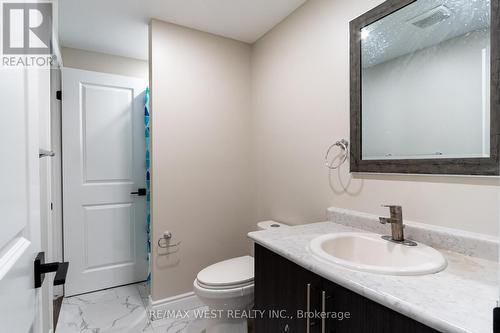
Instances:
[[[318,309],[320,290],[320,277],[255,245],[255,309],[264,311],[257,333],[320,332],[319,321],[305,317]]]

